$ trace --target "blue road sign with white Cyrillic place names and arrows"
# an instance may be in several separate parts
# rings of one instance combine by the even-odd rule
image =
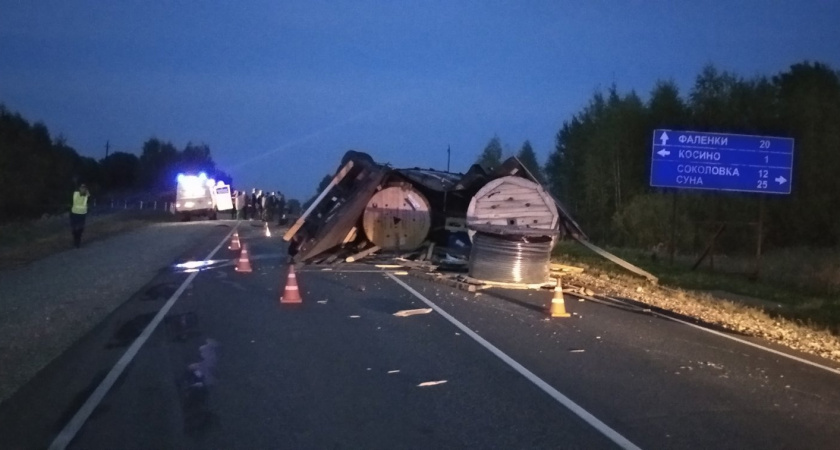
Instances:
[[[650,185],[790,194],[793,139],[654,130]]]

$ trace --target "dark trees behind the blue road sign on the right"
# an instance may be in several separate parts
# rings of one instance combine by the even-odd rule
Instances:
[[[687,95],[660,80],[645,101],[613,85],[566,120],[540,166],[526,142],[519,156],[544,177],[596,241],[649,248],[668,243],[672,212],[678,249],[695,251],[724,222],[721,242],[754,249],[760,194],[666,190],[649,186],[658,128],[790,137],[795,140],[790,195],[766,195],[764,243],[840,244],[840,72],[802,62],[772,76],[745,78],[706,66]],[[494,137],[478,158],[498,164]]]

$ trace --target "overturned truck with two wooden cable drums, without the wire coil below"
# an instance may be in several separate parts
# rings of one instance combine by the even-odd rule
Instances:
[[[284,239],[295,261],[307,263],[373,251],[407,254],[432,244],[466,255],[477,225],[585,237],[516,158],[489,173],[474,165],[459,174],[394,169],[348,151]]]

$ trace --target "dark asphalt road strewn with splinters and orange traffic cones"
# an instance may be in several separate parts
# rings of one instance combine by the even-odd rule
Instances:
[[[228,231],[181,261],[203,260]],[[640,311],[567,297],[576,314],[546,320],[539,305],[550,293],[475,295],[358,264],[302,268],[304,303],[281,306],[284,245],[247,222],[240,231],[252,273],[233,270],[226,243],[206,270],[160,271],[0,404],[0,448],[56,441],[165,307],[67,448],[840,442],[836,372]],[[426,307],[435,310],[393,315]]]

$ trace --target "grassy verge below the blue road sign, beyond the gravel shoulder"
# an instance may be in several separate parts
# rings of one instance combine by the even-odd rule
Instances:
[[[713,298],[752,306],[763,303],[767,306],[763,309],[770,314],[840,334],[840,250],[794,248],[770,251],[762,256],[758,279],[752,276],[754,257],[717,255],[714,271],[708,261],[704,261],[697,270],[691,270],[697,259],[695,255],[677,256],[671,265],[667,254],[653,258],[649,251],[608,250],[659,277],[661,286],[699,291]],[[566,264],[584,265],[596,276],[634,276],[574,241],[558,243],[553,257]],[[739,298],[741,296],[746,299]],[[781,307],[774,308],[773,305]]]

